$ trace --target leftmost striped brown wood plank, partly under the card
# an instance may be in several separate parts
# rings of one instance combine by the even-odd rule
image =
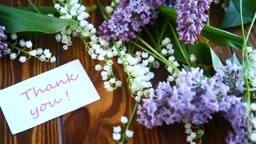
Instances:
[[[36,6],[53,5],[52,0],[33,0]],[[0,4],[21,7],[31,6],[27,0],[1,0]],[[54,35],[45,35],[43,37],[24,37],[25,40],[31,40],[33,48],[50,48],[53,55],[56,53],[56,42]],[[6,88],[10,85],[19,83],[40,73],[46,72],[56,67],[55,64],[41,62],[38,59],[29,59],[22,64],[18,59],[10,60],[7,56],[0,61],[0,88]],[[3,113],[0,113],[0,142],[1,144],[59,144],[62,141],[60,118],[50,120],[47,123],[31,128],[27,131],[12,135],[5,121]]]

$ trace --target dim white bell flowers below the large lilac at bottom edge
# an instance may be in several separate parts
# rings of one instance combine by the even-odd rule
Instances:
[[[200,126],[197,126],[197,131],[196,132],[193,132],[192,131],[192,124],[187,120],[187,117],[184,117],[182,122],[185,124],[184,127],[185,127],[185,133],[188,134],[187,136],[187,142],[190,142],[190,144],[196,144],[195,139],[198,139],[204,135],[204,131],[203,129],[200,129]]]

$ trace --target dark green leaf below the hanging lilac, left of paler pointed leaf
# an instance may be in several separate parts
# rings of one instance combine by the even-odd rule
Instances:
[[[211,48],[207,43],[199,43],[196,45],[188,45],[187,51],[189,53],[189,56],[191,54],[194,54],[197,58],[197,61],[200,62],[200,64],[205,65],[211,65]]]

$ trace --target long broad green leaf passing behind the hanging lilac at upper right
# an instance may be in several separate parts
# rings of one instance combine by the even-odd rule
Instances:
[[[165,14],[168,18],[170,18],[172,21],[175,21],[177,18],[177,13],[173,8],[168,8],[164,5],[161,5],[158,10]],[[204,24],[203,30],[201,32],[201,35],[212,41],[213,43],[216,43],[217,45],[221,46],[233,46],[234,48],[238,50],[243,49],[243,38],[239,37],[237,35],[234,35],[230,32],[217,29],[215,27],[211,27]],[[247,43],[248,46],[251,46],[250,43]]]

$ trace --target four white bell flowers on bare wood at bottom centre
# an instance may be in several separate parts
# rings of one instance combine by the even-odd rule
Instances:
[[[126,124],[126,123],[128,123],[128,118],[127,117],[124,117],[124,116],[122,116],[121,117],[121,123],[123,123],[124,125]],[[113,127],[113,131],[114,131],[114,133],[113,133],[113,139],[115,140],[115,141],[119,141],[120,139],[121,139],[121,127],[120,126],[117,126],[117,127]],[[130,130],[125,130],[125,133],[124,133],[124,135],[125,135],[125,137],[127,137],[127,138],[131,138],[131,137],[133,137],[133,131],[130,131]]]

